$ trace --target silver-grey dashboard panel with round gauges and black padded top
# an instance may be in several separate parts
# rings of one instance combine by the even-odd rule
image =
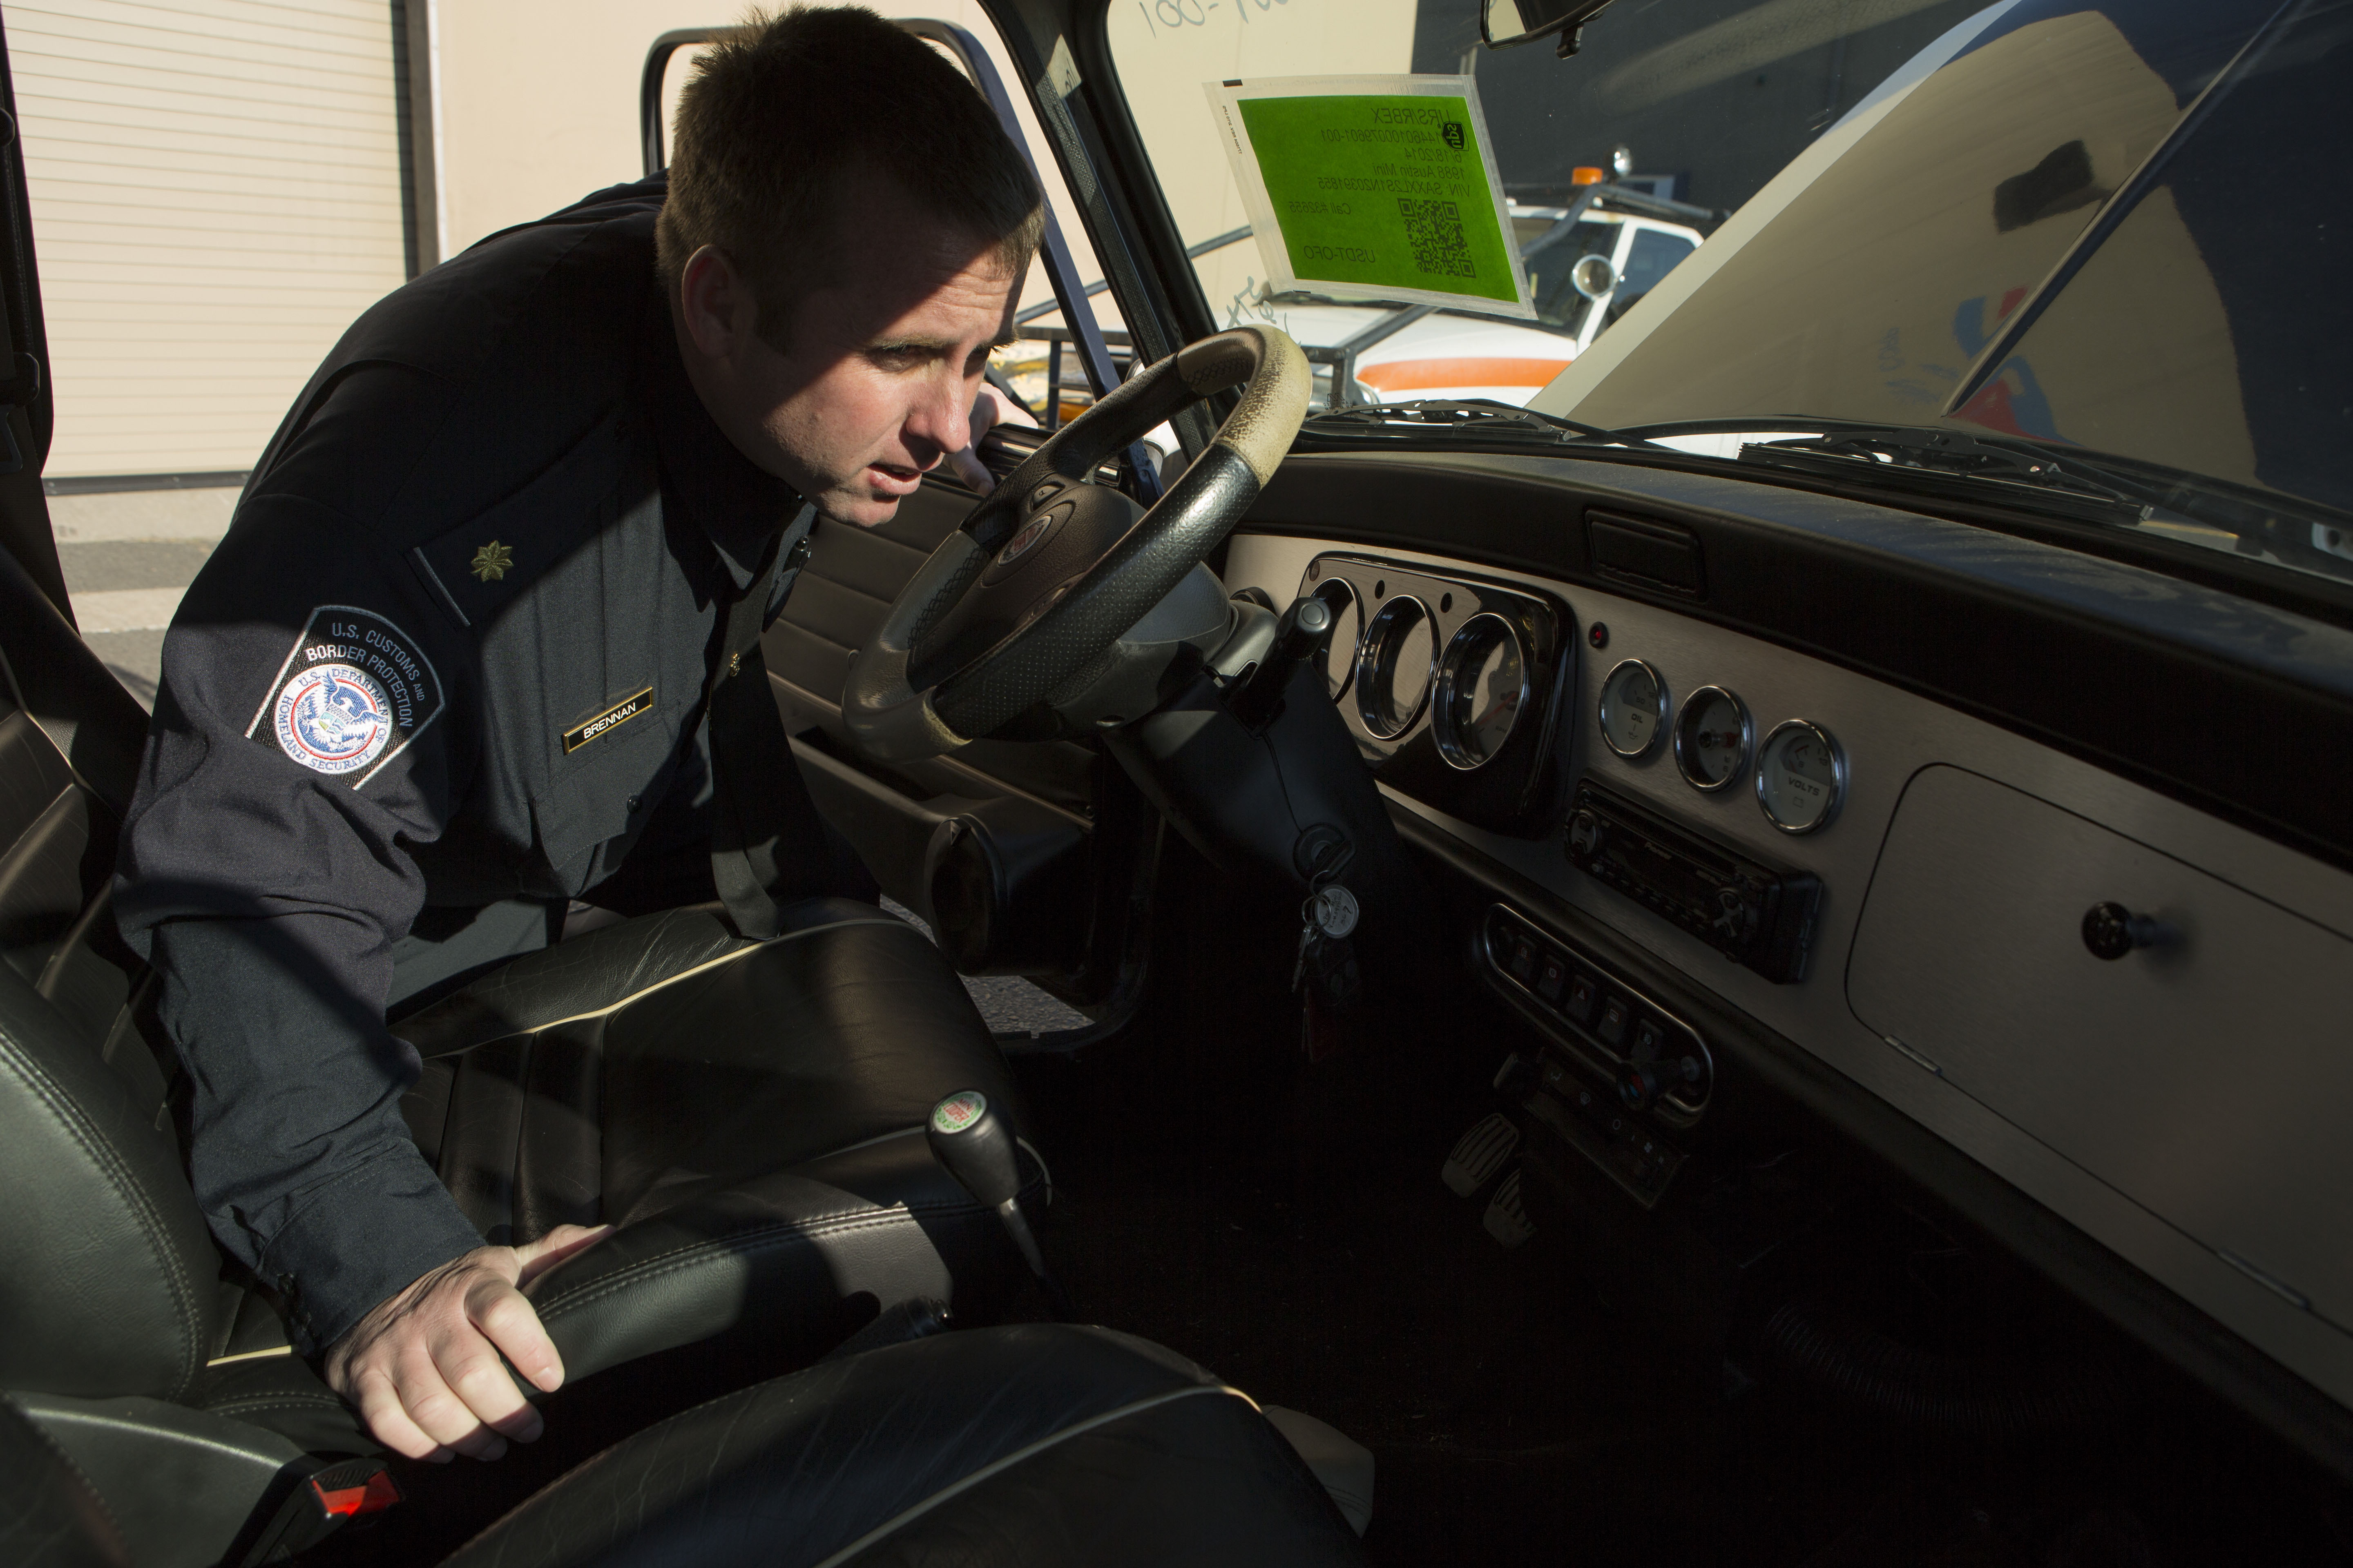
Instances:
[[[2231,820],[2181,778],[2099,766],[2082,755],[2097,712],[2064,745],[2033,715],[1988,712],[2005,682],[2066,696],[2031,661],[1995,668],[2002,616],[1958,632],[1995,693],[1972,701],[1859,654],[1866,637],[1727,609],[1807,597],[1791,576],[1734,588],[1734,567],[1798,574],[1826,536],[1889,529],[1897,555],[1941,550],[1929,567],[1960,595],[2042,571],[2071,595],[2045,607],[2054,621],[2118,661],[2108,607],[2087,599],[2179,599],[2169,578],[1628,465],[1313,463],[1315,484],[1268,491],[1224,576],[1344,611],[1327,686],[1407,839],[1475,884],[1473,964],[1544,1041],[1499,1086],[1649,1206],[1732,1077],[1767,1081],[2195,1373],[2271,1387],[2287,1368],[2308,1385],[2289,1401],[2329,1401],[2306,1420],[2346,1429],[2353,875],[2278,823],[2254,832],[2261,804]],[[1360,473],[1334,484],[1341,468]],[[1482,529],[1480,508],[1527,527]],[[1595,515],[1687,557],[1652,550],[1614,576]],[[1546,517],[1548,567],[1529,531]],[[1920,574],[1918,555],[1894,562],[1864,611],[1897,644],[1906,616],[1922,639],[1955,635]],[[2242,607],[2266,614],[2285,618]],[[2353,637],[2294,632],[2257,642],[2301,661],[2306,698],[2341,703]],[[2075,698],[2099,708],[2162,663],[2075,665]]]

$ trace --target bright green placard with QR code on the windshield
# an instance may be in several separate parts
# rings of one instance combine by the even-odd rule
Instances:
[[[1461,75],[1209,82],[1275,292],[1534,315]]]

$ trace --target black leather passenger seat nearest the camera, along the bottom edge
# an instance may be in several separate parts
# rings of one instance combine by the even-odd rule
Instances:
[[[108,1502],[120,1500],[0,1406],[0,1540],[38,1540],[42,1563],[160,1568],[169,1512],[144,1497],[118,1530]],[[329,1535],[306,1561],[438,1556],[433,1521],[402,1507],[372,1535]],[[449,1568],[1360,1561],[1332,1497],[1247,1396],[1144,1340],[1061,1326],[939,1335],[729,1394],[607,1448],[447,1559]]]

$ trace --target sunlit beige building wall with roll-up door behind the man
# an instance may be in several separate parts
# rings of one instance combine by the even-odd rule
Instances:
[[[1409,33],[1409,0],[1365,2],[1402,7]],[[979,2],[913,0],[908,14],[991,49],[1078,268],[1099,277]],[[739,0],[9,5],[56,386],[47,475],[249,468],[336,336],[407,277],[407,221],[431,261],[635,179],[647,47],[739,16]],[[416,193],[402,183],[395,31]],[[1045,299],[1040,270],[1024,303]],[[1118,327],[1108,296],[1096,310]]]

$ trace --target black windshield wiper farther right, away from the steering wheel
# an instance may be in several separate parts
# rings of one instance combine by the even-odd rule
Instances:
[[[2132,480],[2033,442],[1913,425],[1842,425],[1824,435],[1744,442],[1739,461],[1826,480],[1887,482],[1953,501],[1984,501],[1988,487],[1998,487],[2012,491],[2019,505],[2082,522],[2141,524],[2155,501]]]

